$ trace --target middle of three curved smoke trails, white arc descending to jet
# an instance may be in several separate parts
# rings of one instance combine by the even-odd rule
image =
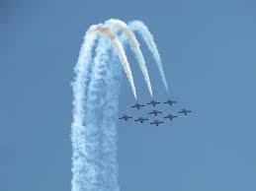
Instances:
[[[140,47],[139,47],[139,43],[138,43],[134,33],[131,32],[128,29],[127,24],[124,23],[121,20],[111,19],[111,20],[106,22],[105,26],[108,26],[110,28],[118,28],[122,32],[124,32],[126,38],[128,39],[128,44],[130,46],[130,49],[134,52],[135,57],[136,57],[136,59],[139,63],[139,67],[140,67],[140,69],[142,71],[142,74],[144,76],[144,80],[145,80],[145,83],[147,85],[150,96],[152,96],[152,88],[151,88],[149,75],[148,75],[148,72],[147,72],[147,69],[146,69],[145,60],[144,60],[144,57],[143,57],[142,52],[141,52]],[[125,42],[127,42],[127,40],[125,40]]]

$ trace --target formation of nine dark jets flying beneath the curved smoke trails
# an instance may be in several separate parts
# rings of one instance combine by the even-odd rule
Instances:
[[[168,104],[169,106],[172,106],[173,104],[177,103],[177,101],[172,100],[172,99],[168,99],[165,102],[158,102],[156,100],[151,100],[150,102],[147,102],[146,104],[139,104],[138,102],[136,102],[134,105],[131,105],[130,107],[136,108],[139,110],[140,108],[145,107],[146,105],[152,105],[153,107],[156,107],[157,104],[161,104],[161,103]],[[180,110],[177,114],[188,115],[191,112],[192,112],[191,110],[187,110],[184,108],[184,109]],[[148,112],[147,114],[152,115],[154,117],[158,117],[158,115],[163,114],[163,112],[160,110],[153,109],[152,111]],[[174,115],[174,114],[170,113],[167,116],[163,116],[162,119],[169,119],[170,121],[172,121],[174,118],[177,118],[177,117],[178,117],[178,115]],[[128,121],[128,119],[132,120],[132,118],[133,118],[132,116],[128,116],[127,114],[124,114],[119,119],[121,119],[121,120],[124,119],[125,121]],[[145,118],[142,116],[139,116],[138,118],[134,119],[135,122],[139,122],[141,124],[144,121],[148,121],[148,120],[149,120],[148,118]],[[154,119],[152,122],[149,122],[149,124],[156,125],[156,126],[159,126],[159,124],[161,124],[161,123],[164,123],[164,121],[158,120],[158,119]]]

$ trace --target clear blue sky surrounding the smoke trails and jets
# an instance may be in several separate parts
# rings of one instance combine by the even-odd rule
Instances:
[[[121,191],[256,190],[253,0],[0,1],[0,190],[70,190],[73,67],[84,32],[110,18],[141,20],[154,34],[179,102],[158,108],[194,111],[159,127],[119,121]],[[128,58],[144,103],[150,97]],[[121,114],[149,109],[129,108],[125,78],[120,102]]]

